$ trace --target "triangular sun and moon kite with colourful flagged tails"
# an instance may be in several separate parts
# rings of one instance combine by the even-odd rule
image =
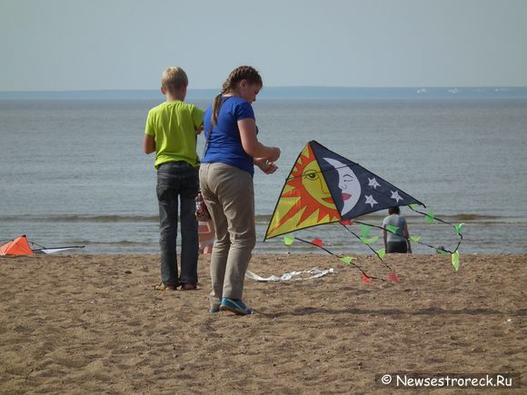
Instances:
[[[388,281],[399,282],[396,272],[383,260],[385,251],[375,251],[372,247],[378,236],[370,237],[373,228],[383,229],[382,226],[353,221],[355,218],[370,213],[378,212],[394,206],[409,206],[413,212],[425,216],[426,222],[442,222],[453,226],[454,232],[459,237],[459,242],[453,251],[444,247],[434,247],[421,241],[420,237],[410,237],[411,242],[417,242],[435,249],[443,255],[451,255],[452,265],[459,269],[459,246],[462,241],[462,223],[453,225],[450,222],[436,218],[433,210],[420,212],[418,206],[426,207],[408,193],[388,183],[378,175],[364,169],[358,163],[353,163],[343,156],[333,153],[320,143],[311,141],[307,143],[298,155],[293,169],[287,177],[280,198],[276,202],[271,222],[265,232],[265,238],[271,239],[284,235],[285,245],[291,245],[295,240],[312,244],[323,251],[339,258],[346,265],[352,265],[363,273],[361,280],[368,284],[372,280],[381,280],[373,277],[357,265],[353,257],[337,255],[325,247],[320,239],[307,241],[289,235],[291,232],[313,226],[340,222],[343,228],[353,234],[358,240],[366,244],[390,270]],[[350,227],[356,223],[360,226],[360,234],[353,232]],[[387,232],[397,232],[397,227],[387,225]],[[401,234],[399,232],[398,234]]]

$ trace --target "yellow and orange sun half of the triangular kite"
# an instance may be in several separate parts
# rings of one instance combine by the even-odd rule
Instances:
[[[320,166],[306,145],[283,187],[266,236],[340,220]]]

